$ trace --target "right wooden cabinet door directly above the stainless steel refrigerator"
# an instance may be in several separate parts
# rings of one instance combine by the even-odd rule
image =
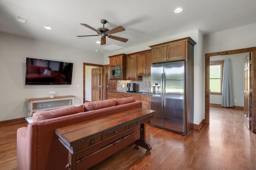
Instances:
[[[178,42],[168,45],[168,61],[186,59],[186,42]]]

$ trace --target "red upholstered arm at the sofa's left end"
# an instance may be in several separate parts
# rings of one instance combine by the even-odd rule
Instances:
[[[17,130],[17,163],[19,170],[36,169],[36,124]]]

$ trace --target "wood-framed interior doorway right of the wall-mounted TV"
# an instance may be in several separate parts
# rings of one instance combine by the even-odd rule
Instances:
[[[97,98],[97,100],[104,100],[104,91],[103,91],[103,80],[104,80],[104,66],[103,65],[99,65],[99,64],[91,64],[91,63],[83,63],[83,71],[84,71],[84,74],[83,74],[83,84],[84,84],[84,90],[83,90],[83,100],[84,100],[84,103],[85,102],[92,102],[92,99],[95,100],[95,96],[92,97],[92,94],[93,92],[96,92],[94,91],[92,88],[92,68],[99,68],[99,75],[98,75],[98,81],[97,81],[97,84],[98,84],[98,90],[97,90],[97,95],[99,96]],[[98,69],[96,69],[98,70]],[[89,78],[89,80],[87,80],[87,78]],[[95,87],[95,86],[94,86]],[[88,99],[88,100],[87,100]]]

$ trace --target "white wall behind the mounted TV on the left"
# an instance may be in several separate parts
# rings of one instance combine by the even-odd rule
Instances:
[[[74,63],[72,85],[25,85],[26,57]],[[0,32],[0,121],[26,117],[26,98],[74,95],[83,103],[83,63],[103,64],[103,55]],[[77,88],[77,84],[80,85]]]

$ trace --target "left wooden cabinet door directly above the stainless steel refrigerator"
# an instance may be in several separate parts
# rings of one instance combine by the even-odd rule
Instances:
[[[152,48],[152,63],[165,62],[167,57],[167,45]]]

